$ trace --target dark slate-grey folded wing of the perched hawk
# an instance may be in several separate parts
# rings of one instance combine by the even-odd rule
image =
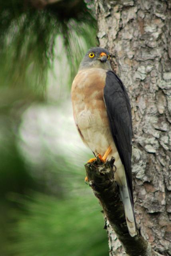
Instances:
[[[121,158],[121,162],[125,168],[127,181],[133,200],[131,176],[131,105],[125,86],[113,71],[108,71],[106,73],[104,101],[109,118],[111,134]]]

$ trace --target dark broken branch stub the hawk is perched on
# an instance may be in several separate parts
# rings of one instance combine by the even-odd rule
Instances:
[[[140,230],[137,236],[129,235],[125,220],[125,212],[121,202],[117,184],[114,181],[114,158],[102,163],[99,158],[92,163],[85,164],[86,175],[95,196],[103,208],[105,216],[123,248],[129,256],[153,256],[150,244],[141,236]],[[115,168],[115,166],[114,166]]]

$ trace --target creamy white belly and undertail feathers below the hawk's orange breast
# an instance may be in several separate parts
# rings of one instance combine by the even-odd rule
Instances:
[[[76,123],[84,137],[85,144],[95,153],[95,155],[101,154],[103,156],[107,148],[111,146],[112,150],[107,156],[107,159],[110,159],[112,156],[115,158],[114,164],[117,170],[115,172],[115,180],[118,184],[123,186],[125,185],[124,166],[113,141],[109,124],[106,125],[106,122],[103,121],[104,120],[101,119],[97,109],[91,112],[85,108],[76,116]]]

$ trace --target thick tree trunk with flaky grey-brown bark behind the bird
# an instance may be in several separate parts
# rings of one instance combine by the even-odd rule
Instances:
[[[132,105],[132,175],[141,234],[171,255],[171,1],[96,0],[99,44]],[[124,255],[107,223],[110,256]],[[133,245],[132,245],[133,246]]]

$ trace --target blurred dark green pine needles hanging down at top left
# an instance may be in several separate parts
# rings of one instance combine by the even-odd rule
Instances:
[[[0,2],[1,86],[27,88],[42,94],[54,59],[57,35],[65,45],[72,76],[83,52],[79,36],[87,46],[95,43],[95,18],[83,0],[60,0],[47,6],[41,2],[46,3]]]

